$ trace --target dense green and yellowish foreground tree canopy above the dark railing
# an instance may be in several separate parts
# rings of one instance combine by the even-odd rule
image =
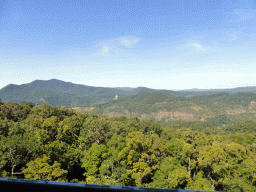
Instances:
[[[0,176],[152,188],[256,191],[255,121],[80,114],[0,102]]]

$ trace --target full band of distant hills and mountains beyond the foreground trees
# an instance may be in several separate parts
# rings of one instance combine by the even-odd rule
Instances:
[[[78,112],[108,116],[153,118],[161,122],[204,121],[223,125],[256,120],[256,87],[189,89],[181,91],[146,87],[93,87],[57,79],[9,84],[0,89],[3,102],[30,101]]]

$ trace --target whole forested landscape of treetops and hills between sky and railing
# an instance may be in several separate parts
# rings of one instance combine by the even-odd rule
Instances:
[[[7,85],[0,98],[1,177],[256,189],[254,90],[192,93],[37,80]]]

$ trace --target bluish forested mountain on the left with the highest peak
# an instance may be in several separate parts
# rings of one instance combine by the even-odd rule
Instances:
[[[0,90],[0,98],[4,102],[29,101],[34,104],[47,103],[54,107],[72,107],[110,101],[116,94],[122,93],[120,89],[77,85],[52,79],[36,80],[23,85],[10,84]]]

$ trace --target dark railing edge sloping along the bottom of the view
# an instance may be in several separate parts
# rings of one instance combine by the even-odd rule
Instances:
[[[53,182],[53,181],[35,181],[26,179],[11,179],[0,177],[0,191],[11,192],[13,190],[19,191],[39,191],[39,190],[60,190],[60,192],[71,191],[150,191],[150,192],[206,192],[200,190],[183,190],[183,189],[155,189],[142,187],[122,187],[122,186],[108,186],[108,185],[88,185],[81,183],[70,182]]]

